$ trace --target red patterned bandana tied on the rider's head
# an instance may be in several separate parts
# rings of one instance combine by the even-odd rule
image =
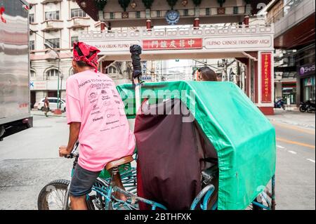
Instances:
[[[80,56],[79,53],[76,51],[75,49],[76,46],[79,46],[81,52],[83,53],[82,56]],[[94,53],[93,55],[91,55],[90,58],[88,58],[91,52],[94,52]],[[98,72],[98,65],[99,65],[98,53],[100,53],[100,50],[98,48],[95,48],[94,46],[89,46],[88,44],[84,44],[83,42],[74,43],[74,60],[86,62],[88,65],[95,67],[96,72]]]

